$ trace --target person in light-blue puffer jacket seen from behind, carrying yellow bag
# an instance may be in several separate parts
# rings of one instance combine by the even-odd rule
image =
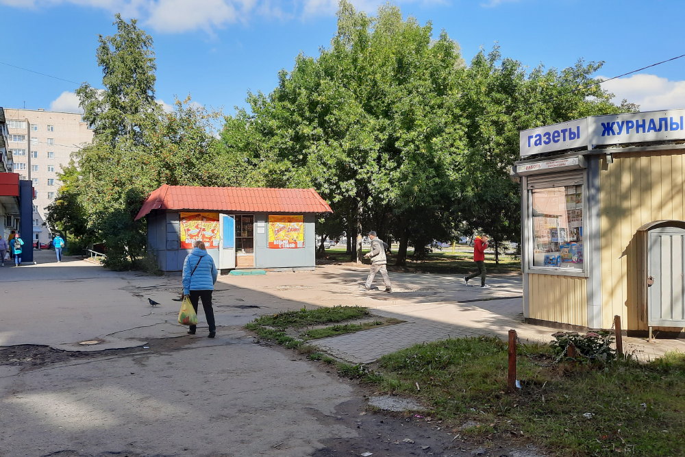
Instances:
[[[219,271],[214,265],[214,259],[207,254],[205,243],[195,241],[193,249],[186,257],[183,264],[183,293],[190,297],[190,303],[197,313],[198,299],[202,300],[202,308],[205,310],[207,324],[210,328],[210,338],[216,335],[214,323],[214,310],[212,309],[212,292]],[[188,334],[195,334],[195,325],[190,325]]]

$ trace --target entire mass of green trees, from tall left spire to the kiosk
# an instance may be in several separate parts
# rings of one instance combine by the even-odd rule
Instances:
[[[110,266],[127,268],[145,256],[134,217],[162,184],[313,187],[334,210],[319,234],[375,230],[399,240],[399,264],[409,246],[421,259],[479,230],[497,247],[520,236],[509,173],[522,129],[638,108],[611,102],[602,62],[529,69],[495,45],[466,63],[447,32],[396,5],[370,16],[341,0],[337,15],[329,47],[297,55],[270,93],[248,92],[218,136],[216,114],[189,98],[162,110],[153,40],[117,15],[116,34],[99,36],[103,88],[77,90],[95,138],[63,170],[51,226],[104,241]]]

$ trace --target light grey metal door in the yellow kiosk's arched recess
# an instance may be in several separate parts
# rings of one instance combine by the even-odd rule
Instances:
[[[685,230],[675,227],[649,232],[649,326],[685,327]]]

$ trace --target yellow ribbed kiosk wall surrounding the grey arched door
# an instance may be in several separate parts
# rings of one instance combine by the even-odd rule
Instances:
[[[682,152],[614,153],[599,171],[602,328],[614,315],[623,328],[647,330],[640,310],[638,228],[664,219],[682,221],[685,175]]]

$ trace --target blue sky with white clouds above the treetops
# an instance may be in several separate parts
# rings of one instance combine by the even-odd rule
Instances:
[[[380,2],[354,0],[375,12]],[[403,14],[432,21],[466,60],[499,42],[504,56],[534,67],[605,60],[611,77],[685,54],[685,2],[671,0],[402,0]],[[336,29],[331,0],[0,0],[0,62],[74,82],[101,82],[97,34],[115,12],[136,17],[155,41],[157,97],[174,95],[231,114],[247,90],[271,91],[299,52],[316,55]],[[608,83],[643,110],[685,108],[685,58]],[[0,64],[0,106],[75,110],[76,84]]]

